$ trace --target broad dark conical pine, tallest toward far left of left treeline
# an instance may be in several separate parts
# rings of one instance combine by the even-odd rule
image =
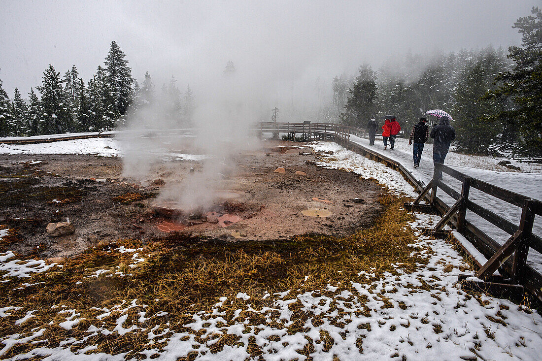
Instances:
[[[59,134],[73,131],[73,121],[70,119],[68,100],[62,88],[60,73],[53,65],[43,72],[43,84],[36,87],[41,93],[43,118],[40,132],[42,134]]]

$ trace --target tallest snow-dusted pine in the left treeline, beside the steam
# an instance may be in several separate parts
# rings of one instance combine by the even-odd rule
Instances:
[[[125,54],[116,42],[111,42],[111,48],[105,59],[107,79],[111,87],[111,105],[115,114],[122,115],[132,101],[132,68],[128,67]]]

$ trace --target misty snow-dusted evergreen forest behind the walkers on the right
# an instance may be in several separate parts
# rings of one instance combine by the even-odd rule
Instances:
[[[333,113],[341,123],[365,127],[370,118],[396,115],[408,132],[424,112],[443,109],[454,118],[457,144],[486,154],[493,144],[542,155],[542,14],[514,24],[521,47],[408,54],[375,71],[333,79]],[[382,120],[380,120],[382,122]]]

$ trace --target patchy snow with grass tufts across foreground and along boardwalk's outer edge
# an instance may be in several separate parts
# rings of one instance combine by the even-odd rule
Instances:
[[[311,146],[324,152],[318,160],[321,166],[344,168],[364,178],[378,179],[397,195],[415,194],[408,183],[401,181],[400,173],[380,163],[333,144],[313,143]],[[417,230],[431,227],[438,219],[438,216],[416,213],[415,221],[409,225],[418,237],[410,245],[412,253],[419,253],[428,260],[427,266],[414,272],[407,272],[397,264],[395,272],[386,272],[383,278],[360,272],[357,278],[352,277],[350,287],[334,284],[311,292],[266,293],[262,298],[272,300],[272,307],[252,305],[251,298],[242,292],[230,298],[224,296],[209,312],[192,314],[191,321],[179,325],[182,331],[175,331],[167,319],[156,324],[156,317],[165,317],[165,312],[153,316],[147,314],[147,306],[136,299],[126,300],[113,307],[96,307],[98,315],[85,320],[89,326],[82,338],[68,338],[60,346],[50,347],[43,340],[44,329],[36,327],[27,334],[2,337],[0,343],[4,347],[0,356],[17,344],[33,343],[33,349],[11,359],[37,356],[122,360],[125,354],[93,353],[98,345],[90,340],[99,334],[122,337],[141,332],[148,339],[144,350],[139,352],[141,359],[173,361],[196,352],[197,359],[239,360],[250,357],[249,347],[257,347],[266,360],[301,361],[306,357],[296,351],[309,344],[313,347],[313,359],[330,361],[335,357],[340,360],[538,359],[542,352],[542,317],[511,301],[485,295],[474,298],[458,288],[457,274],[473,272],[449,243],[431,240]],[[143,252],[124,247],[115,251]],[[5,261],[0,259],[0,265]],[[306,279],[311,276],[307,275]],[[290,307],[296,302],[301,303],[301,311],[308,318],[304,324],[294,327]],[[228,303],[241,304],[233,317],[222,311],[221,307]],[[61,322],[57,321],[60,327],[73,327],[83,319],[79,310],[62,305],[53,307],[61,308],[59,314],[64,315]],[[131,309],[138,311],[138,318],[128,317]],[[9,305],[0,305],[2,318],[16,311]],[[33,312],[28,310],[23,317],[30,317]],[[249,316],[240,318],[241,314]],[[153,322],[147,323],[151,317],[154,317]],[[114,326],[111,322],[109,326],[106,324],[104,319],[107,318],[116,320]],[[266,323],[249,322],[260,318],[266,319]],[[234,338],[235,343],[212,351],[215,343],[227,337]],[[70,348],[72,345],[76,346],[74,351]]]

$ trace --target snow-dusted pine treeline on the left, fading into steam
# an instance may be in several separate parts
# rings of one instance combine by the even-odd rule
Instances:
[[[172,76],[159,92],[155,94],[149,72],[139,86],[126,55],[113,41],[104,65],[86,83],[75,65],[64,76],[49,65],[42,84],[31,88],[25,101],[17,88],[10,100],[0,80],[0,137],[112,130],[119,120],[152,102],[160,102],[179,126],[190,123],[190,86],[181,94]]]

